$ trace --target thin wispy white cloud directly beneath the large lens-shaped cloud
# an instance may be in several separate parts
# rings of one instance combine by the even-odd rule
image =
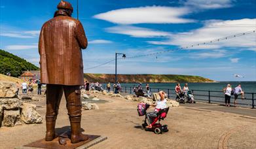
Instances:
[[[105,29],[109,33],[119,33],[122,35],[130,35],[132,37],[166,37],[170,33],[165,31],[156,31],[144,27],[134,27],[131,25],[118,25],[115,27],[108,27]]]

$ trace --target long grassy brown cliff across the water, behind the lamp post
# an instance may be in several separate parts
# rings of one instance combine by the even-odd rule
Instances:
[[[118,74],[119,82],[215,82],[201,76],[188,76],[177,74]],[[89,82],[115,82],[115,74],[84,74],[84,79]]]

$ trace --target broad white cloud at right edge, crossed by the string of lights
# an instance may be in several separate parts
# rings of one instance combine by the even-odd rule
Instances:
[[[149,41],[151,44],[166,44],[177,45],[181,47],[196,45],[197,43],[208,42],[213,39],[227,37],[236,33],[244,33],[255,30],[256,19],[241,19],[241,20],[210,20],[204,23],[204,27],[194,29],[185,33],[172,34],[168,41]],[[222,47],[243,47],[255,49],[255,33],[235,37],[227,41],[219,41],[204,45],[204,49],[222,48]],[[201,46],[194,46],[189,49],[200,49]]]

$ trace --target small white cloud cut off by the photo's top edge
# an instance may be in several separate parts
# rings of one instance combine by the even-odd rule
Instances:
[[[232,0],[187,0],[183,1],[187,7],[202,9],[229,8],[232,7]]]

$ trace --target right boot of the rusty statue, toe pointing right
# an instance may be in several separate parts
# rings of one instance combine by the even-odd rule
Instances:
[[[89,139],[88,135],[81,133],[81,116],[70,117],[71,124],[71,143],[78,143]]]

